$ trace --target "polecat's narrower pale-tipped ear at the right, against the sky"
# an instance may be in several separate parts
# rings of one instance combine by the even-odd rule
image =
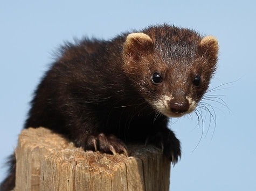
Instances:
[[[200,50],[210,62],[216,63],[218,60],[219,45],[214,36],[205,36],[200,41]]]

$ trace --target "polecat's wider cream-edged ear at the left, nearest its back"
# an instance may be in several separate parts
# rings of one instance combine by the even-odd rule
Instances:
[[[134,61],[139,60],[141,55],[153,52],[154,42],[144,33],[131,33],[123,44],[123,56]]]

